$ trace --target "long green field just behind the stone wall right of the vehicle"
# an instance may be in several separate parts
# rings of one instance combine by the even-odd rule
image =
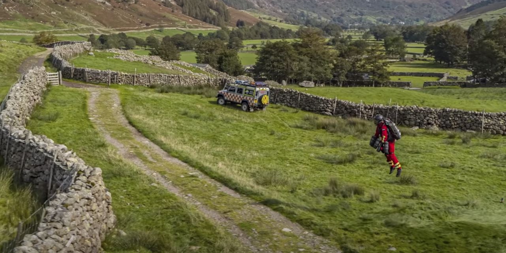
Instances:
[[[289,86],[290,89],[341,100],[366,104],[417,105],[434,108],[458,108],[470,111],[506,111],[506,88],[479,89],[424,89],[422,91],[398,88],[340,88],[315,87],[311,89]]]

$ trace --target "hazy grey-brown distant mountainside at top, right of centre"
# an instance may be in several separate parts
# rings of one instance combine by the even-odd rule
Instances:
[[[250,0],[292,19],[311,15],[341,24],[422,23],[444,19],[481,0]],[[301,14],[301,12],[305,12]]]

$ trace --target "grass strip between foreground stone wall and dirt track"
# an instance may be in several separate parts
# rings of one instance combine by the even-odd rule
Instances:
[[[87,103],[86,90],[52,87],[28,128],[65,144],[88,165],[102,168],[118,219],[116,229],[126,233],[109,234],[102,242],[106,252],[185,253],[195,248],[205,253],[244,252],[228,232],[123,160],[90,121]]]

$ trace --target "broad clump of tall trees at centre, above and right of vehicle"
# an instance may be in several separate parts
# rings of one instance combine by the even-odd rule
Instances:
[[[292,43],[268,42],[257,54],[255,74],[277,81],[335,79],[341,85],[344,80],[390,80],[389,63],[378,45],[361,39],[332,49],[317,30],[305,30]]]

